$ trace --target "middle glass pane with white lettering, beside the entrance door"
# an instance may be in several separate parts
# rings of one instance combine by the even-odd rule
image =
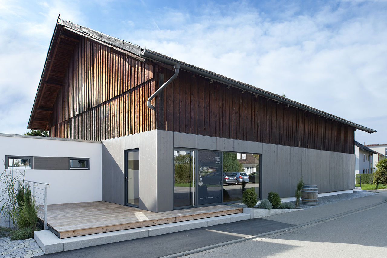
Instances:
[[[222,156],[219,151],[198,151],[198,205],[222,201]]]

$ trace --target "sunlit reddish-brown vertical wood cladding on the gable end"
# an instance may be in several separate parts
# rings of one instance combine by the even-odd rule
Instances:
[[[153,65],[82,38],[50,116],[50,136],[104,140],[156,129]]]

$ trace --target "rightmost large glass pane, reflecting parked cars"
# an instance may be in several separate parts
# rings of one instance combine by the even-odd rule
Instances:
[[[244,189],[251,187],[260,198],[259,154],[223,152],[223,176],[223,202],[241,201]]]

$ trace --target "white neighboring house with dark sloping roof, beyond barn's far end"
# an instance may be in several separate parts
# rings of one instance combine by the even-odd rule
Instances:
[[[355,141],[355,174],[372,173],[372,156],[374,154],[377,152]]]

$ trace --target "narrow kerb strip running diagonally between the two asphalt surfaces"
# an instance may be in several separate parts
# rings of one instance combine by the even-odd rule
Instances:
[[[193,249],[193,250],[190,250],[190,251],[185,251],[185,252],[181,252],[181,253],[175,253],[173,255],[167,255],[167,256],[163,256],[161,258],[177,258],[177,257],[185,256],[185,255],[192,255],[194,253],[200,253],[200,252],[207,251],[207,250],[214,249],[214,248],[228,246],[230,244],[235,244],[235,243],[240,243],[240,242],[245,242],[245,241],[259,241],[259,240],[262,240],[262,239],[265,239],[265,238],[270,238],[270,237],[274,237],[274,236],[277,236],[277,235],[281,235],[281,234],[277,234],[277,233],[286,234],[288,232],[293,232],[295,230],[300,230],[303,227],[310,227],[310,226],[313,226],[313,225],[322,224],[322,223],[325,223],[325,222],[330,221],[330,220],[335,220],[335,219],[338,219],[338,218],[346,217],[348,215],[352,215],[352,214],[355,214],[355,213],[363,212],[365,210],[370,210],[370,209],[376,208],[377,206],[380,206],[380,205],[382,205],[384,203],[387,203],[387,200],[386,201],[381,201],[379,203],[374,203],[372,205],[368,205],[368,206],[365,206],[365,207],[361,207],[361,208],[358,208],[358,209],[355,209],[355,210],[350,210],[348,212],[343,212],[343,213],[332,215],[332,216],[325,217],[325,218],[322,218],[322,219],[306,222],[306,223],[303,223],[303,224],[300,224],[300,225],[295,225],[293,227],[288,227],[287,229],[278,229],[278,230],[274,230],[274,231],[258,234],[257,236],[248,236],[248,237],[243,237],[243,238],[240,238],[240,239],[235,239],[235,240],[231,240],[231,241],[227,241],[227,242],[223,242],[223,243],[219,243],[219,244],[212,244],[210,246],[204,246],[204,247]]]

